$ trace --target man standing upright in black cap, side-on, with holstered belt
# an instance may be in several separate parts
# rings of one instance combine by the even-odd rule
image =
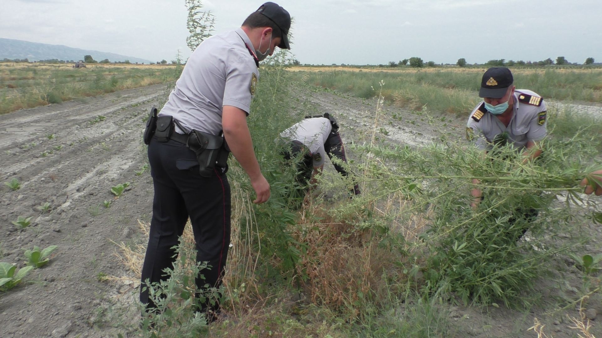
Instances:
[[[232,154],[249,175],[257,195],[253,203],[264,203],[270,197],[270,185],[259,169],[246,117],[259,79],[259,61],[272,55],[276,46],[290,49],[290,25],[288,11],[266,2],[244,20],[241,28],[206,39],[188,59],[161,109],[148,148],[155,195],[140,290],[140,301],[148,310],[155,304],[145,286],[148,281],[166,280],[163,270],[173,268],[172,247],[178,245],[188,217],[196,260],[210,266],[201,271],[204,279],[197,276],[197,288],[221,284],[230,242],[230,186],[225,166],[213,170],[203,164],[199,167],[203,152],[210,148],[207,144],[219,143],[223,133]],[[169,116],[173,121],[164,118]],[[169,126],[171,122],[173,126]],[[191,141],[198,141],[201,147],[189,149]],[[219,304],[210,306],[208,301],[199,306],[199,310],[211,312],[210,321],[219,310]]]

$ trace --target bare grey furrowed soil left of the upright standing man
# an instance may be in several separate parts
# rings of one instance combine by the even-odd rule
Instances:
[[[102,316],[101,304],[122,293],[123,286],[101,283],[96,275],[120,274],[110,241],[131,241],[137,220],[149,218],[152,180],[149,171],[135,176],[134,170],[146,163],[143,118],[164,88],[0,116],[0,180],[22,182],[17,191],[0,188],[0,261],[22,266],[23,250],[59,247],[51,263],[26,277],[34,283],[1,295],[0,336],[107,336],[110,330],[93,326]],[[94,121],[98,115],[105,119]],[[110,188],[123,182],[132,186],[114,200]],[[112,201],[109,209],[101,207],[103,200]],[[51,212],[41,214],[37,206],[46,201]],[[11,224],[17,216],[33,222],[17,230]]]

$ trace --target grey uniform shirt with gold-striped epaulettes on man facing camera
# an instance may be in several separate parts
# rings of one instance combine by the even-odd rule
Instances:
[[[508,133],[508,141],[517,150],[524,149],[527,142],[541,141],[547,135],[546,108],[543,99],[535,92],[525,89],[515,90],[512,99],[514,114],[507,127],[485,109],[484,102],[479,103],[471,112],[467,124],[467,137],[469,140],[473,138],[479,149],[491,150],[491,142],[503,132]]]

